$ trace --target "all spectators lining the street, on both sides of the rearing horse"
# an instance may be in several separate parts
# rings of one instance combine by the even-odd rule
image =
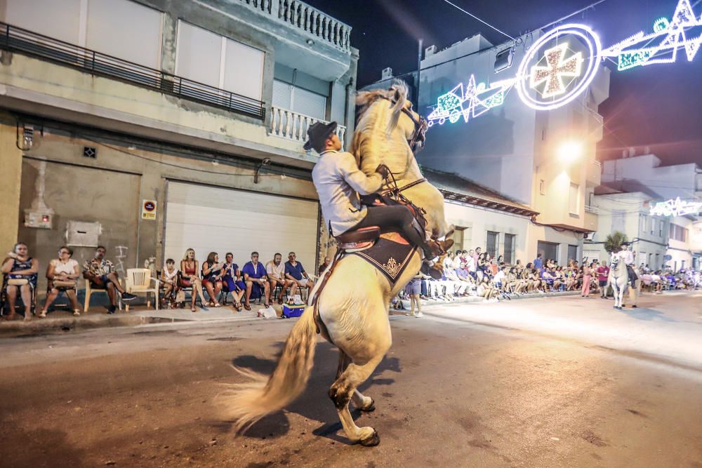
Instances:
[[[124,290],[114,264],[105,259],[104,247],[98,246],[95,249],[94,257],[84,262],[82,272],[72,255],[71,248],[62,246],[58,250],[58,258],[48,262],[46,300],[38,314],[40,317],[46,316],[49,307],[61,293],[65,293],[74,315],[79,315],[81,308],[77,300],[77,286],[81,276],[89,281],[92,289],[107,292],[110,300],[108,314],[114,314],[118,299],[135,299],[135,295]],[[319,271],[328,265],[329,258],[325,258]],[[511,300],[515,295],[561,291],[579,291],[583,297],[590,297],[592,293],[607,297],[609,267],[607,262],[600,263],[597,260],[568,260],[566,265],[558,265],[555,260],[544,260],[538,254],[533,262],[526,265],[521,260],[517,260],[514,265],[507,265],[502,255],[491,258],[489,253],[482,252],[478,247],[449,253],[444,259],[443,267],[442,279],[418,274],[400,295],[410,300],[411,315],[421,315],[421,300],[451,302],[456,297],[477,296],[495,302]],[[693,269],[681,269],[676,273],[668,268],[654,271],[642,263],[637,270],[642,288],[657,293],[668,289],[702,287],[701,272]],[[17,243],[13,251],[8,253],[2,262],[2,273],[8,302],[6,309],[9,311],[5,318],[14,318],[15,303],[21,297],[25,320],[31,319],[39,262],[29,255],[25,243]],[[252,252],[251,260],[239,268],[232,253],[226,253],[225,260],[220,261],[218,253],[210,252],[200,265],[195,258],[195,251],[189,248],[178,267],[175,260],[166,260],[159,279],[163,288],[162,305],[182,306],[185,303],[185,293],[188,292],[192,312],[197,311],[198,298],[201,309],[207,310],[207,307],[221,307],[220,298],[226,299],[229,295],[237,311],[251,310],[252,300],[260,300],[265,307],[270,307],[273,302],[283,304],[286,300],[301,303],[300,292],[311,290],[314,286],[312,276],[297,261],[294,252],[288,254],[286,262],[282,261],[280,253],[276,253],[265,265],[260,262],[258,252]]]

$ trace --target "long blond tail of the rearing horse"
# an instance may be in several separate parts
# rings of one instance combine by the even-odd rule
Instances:
[[[305,308],[285,341],[283,352],[270,377],[236,368],[249,382],[230,385],[217,399],[225,417],[234,420],[237,432],[248,429],[265,415],[287,406],[303,392],[310,377],[317,345],[312,307]]]

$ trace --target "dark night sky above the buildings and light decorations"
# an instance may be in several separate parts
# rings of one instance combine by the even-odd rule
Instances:
[[[358,85],[416,70],[417,39],[442,49],[481,33],[493,44],[509,39],[461,13],[443,0],[306,0],[351,25],[359,49]],[[538,29],[595,0],[451,0],[511,36]],[[692,0],[696,16],[702,0]],[[697,4],[696,4],[697,3]],[[649,34],[654,20],[670,19],[677,0],[607,0],[567,22],[581,22],[600,34],[603,48],[639,31]],[[516,64],[515,64],[516,66]],[[617,72],[611,64],[610,97],[600,106],[604,139],[600,159],[621,156],[630,146],[649,146],[664,164],[702,166],[702,49],[693,62],[679,53],[677,63]],[[469,123],[470,125],[470,123]]]

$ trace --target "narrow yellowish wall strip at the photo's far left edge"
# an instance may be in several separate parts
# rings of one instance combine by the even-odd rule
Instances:
[[[20,203],[20,177],[22,152],[17,145],[15,121],[6,114],[0,115],[0,256],[12,250],[17,242]]]

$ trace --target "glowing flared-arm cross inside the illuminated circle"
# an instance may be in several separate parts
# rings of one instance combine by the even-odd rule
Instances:
[[[532,89],[546,82],[541,97],[552,98],[566,92],[563,76],[580,76],[583,65],[583,53],[578,52],[564,60],[568,51],[568,44],[559,44],[546,50],[546,67],[531,67],[530,86]]]

